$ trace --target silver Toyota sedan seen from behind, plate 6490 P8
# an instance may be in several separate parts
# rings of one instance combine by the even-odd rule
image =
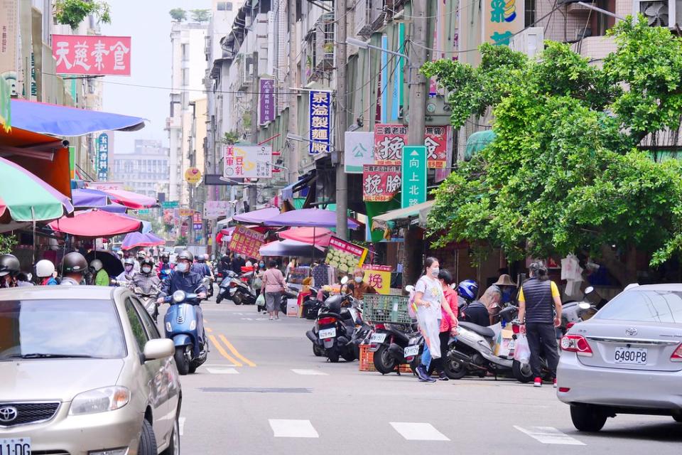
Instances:
[[[561,339],[559,400],[580,431],[616,414],[657,414],[682,422],[682,284],[618,294]]]

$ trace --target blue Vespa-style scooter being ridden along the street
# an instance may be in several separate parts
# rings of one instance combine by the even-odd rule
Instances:
[[[208,356],[208,341],[205,336],[204,345],[199,345],[197,311],[195,305],[190,303],[198,299],[197,294],[188,294],[185,291],[175,291],[164,299],[167,304],[171,304],[171,308],[163,318],[163,326],[166,338],[170,338],[175,344],[175,363],[180,375],[194,373]]]

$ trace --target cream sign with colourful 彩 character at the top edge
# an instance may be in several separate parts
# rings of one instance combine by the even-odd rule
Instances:
[[[509,45],[511,37],[524,28],[524,0],[483,0],[481,41]]]

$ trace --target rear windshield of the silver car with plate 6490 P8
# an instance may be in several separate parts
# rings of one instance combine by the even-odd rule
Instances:
[[[682,292],[651,289],[623,292],[600,309],[595,319],[682,323]]]

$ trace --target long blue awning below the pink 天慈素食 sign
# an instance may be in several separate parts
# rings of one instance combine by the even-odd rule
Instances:
[[[137,131],[146,119],[43,102],[12,100],[12,126],[53,136],[83,136],[100,131]]]

